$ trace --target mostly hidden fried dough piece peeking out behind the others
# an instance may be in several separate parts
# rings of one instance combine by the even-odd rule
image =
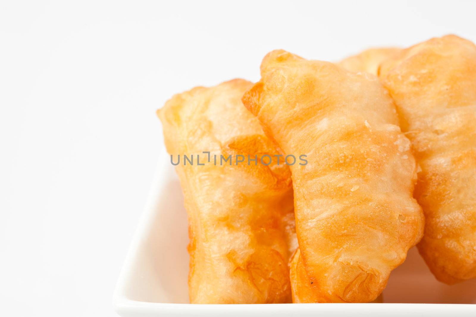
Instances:
[[[367,71],[368,73],[378,75],[380,63],[397,55],[400,51],[401,49],[397,48],[368,49],[360,54],[341,60],[338,65],[350,71]]]

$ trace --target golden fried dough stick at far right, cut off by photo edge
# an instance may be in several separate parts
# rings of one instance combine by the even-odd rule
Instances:
[[[476,277],[476,47],[454,35],[402,51],[381,78],[421,167],[418,249],[448,284]]]

